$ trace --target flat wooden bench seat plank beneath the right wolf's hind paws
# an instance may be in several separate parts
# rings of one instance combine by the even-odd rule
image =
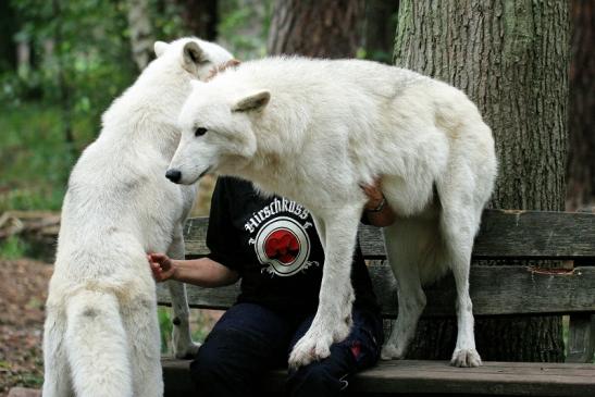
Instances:
[[[184,395],[193,386],[188,361],[162,360],[165,396]],[[266,390],[281,390],[287,370],[265,375]],[[381,361],[349,380],[350,392],[377,394],[453,394],[516,396],[593,396],[595,365],[532,362],[484,362],[454,368],[446,361]],[[175,392],[175,394],[174,394]]]

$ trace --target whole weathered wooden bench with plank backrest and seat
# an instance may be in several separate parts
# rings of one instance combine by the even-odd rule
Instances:
[[[204,256],[207,219],[191,219],[185,227],[189,258]],[[360,227],[365,259],[385,259],[380,231]],[[560,260],[563,269],[538,265],[481,265],[479,260]],[[595,214],[541,211],[486,210],[473,248],[471,298],[482,315],[565,314],[570,317],[565,363],[484,362],[476,369],[458,369],[446,361],[384,361],[350,381],[352,393],[456,394],[506,396],[595,396]],[[506,262],[505,262],[506,263]],[[369,266],[385,318],[397,313],[396,283],[380,261]],[[455,313],[451,276],[425,288],[425,317]],[[193,308],[226,309],[238,285],[224,288],[188,287]],[[170,298],[162,286],[160,305]],[[481,351],[480,351],[481,353]],[[163,358],[166,396],[188,395],[188,361]],[[285,371],[265,381],[271,392],[281,389]]]

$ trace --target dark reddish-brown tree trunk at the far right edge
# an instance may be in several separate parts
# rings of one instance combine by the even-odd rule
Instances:
[[[595,3],[572,0],[567,209],[595,204]]]

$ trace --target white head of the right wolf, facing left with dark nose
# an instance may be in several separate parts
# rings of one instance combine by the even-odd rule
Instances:
[[[270,99],[264,89],[193,82],[178,117],[179,146],[165,176],[189,185],[208,172],[237,174],[257,151],[255,123]]]

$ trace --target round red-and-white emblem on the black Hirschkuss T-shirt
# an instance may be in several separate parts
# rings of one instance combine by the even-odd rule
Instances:
[[[310,255],[310,238],[301,224],[292,218],[278,216],[262,226],[256,236],[255,249],[260,263],[281,276],[299,272]]]

